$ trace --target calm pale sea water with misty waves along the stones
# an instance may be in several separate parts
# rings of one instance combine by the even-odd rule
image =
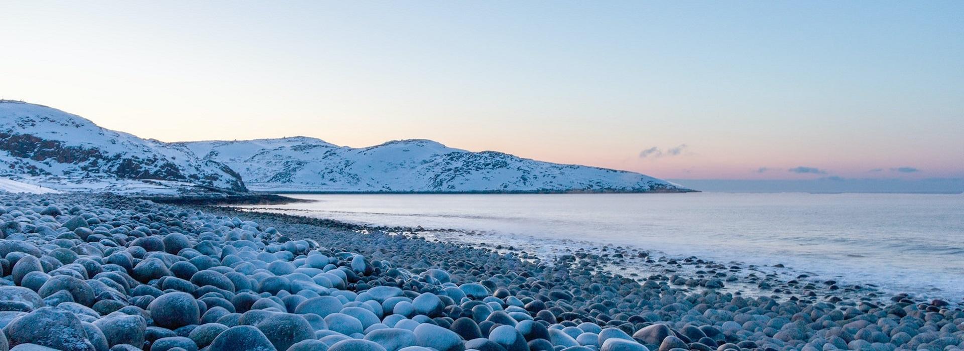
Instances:
[[[295,194],[294,214],[495,235],[577,238],[964,297],[964,195]]]

